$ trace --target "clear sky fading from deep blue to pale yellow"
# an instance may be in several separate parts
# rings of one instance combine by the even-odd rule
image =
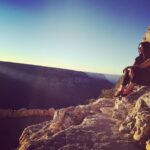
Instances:
[[[122,74],[150,26],[149,0],[0,0],[0,60]]]

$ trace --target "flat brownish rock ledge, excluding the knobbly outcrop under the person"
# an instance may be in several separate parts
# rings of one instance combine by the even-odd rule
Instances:
[[[112,117],[114,99],[100,98],[87,105],[56,110],[52,121],[27,127],[19,150],[140,150],[119,132]]]

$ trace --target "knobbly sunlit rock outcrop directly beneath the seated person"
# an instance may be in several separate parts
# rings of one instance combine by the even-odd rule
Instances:
[[[122,122],[119,131],[140,143],[142,147],[146,145],[148,149],[148,139],[150,139],[150,87],[137,87],[131,95],[121,98],[120,103],[119,107],[116,106],[113,114]]]

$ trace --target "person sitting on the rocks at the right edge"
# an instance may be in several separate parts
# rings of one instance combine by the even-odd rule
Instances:
[[[122,83],[114,96],[130,94],[135,84],[150,86],[150,42],[141,42],[138,51],[134,64],[123,70]]]

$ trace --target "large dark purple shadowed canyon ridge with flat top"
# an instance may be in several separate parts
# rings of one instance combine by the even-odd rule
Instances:
[[[66,107],[96,98],[113,83],[103,75],[0,62],[0,108]]]

